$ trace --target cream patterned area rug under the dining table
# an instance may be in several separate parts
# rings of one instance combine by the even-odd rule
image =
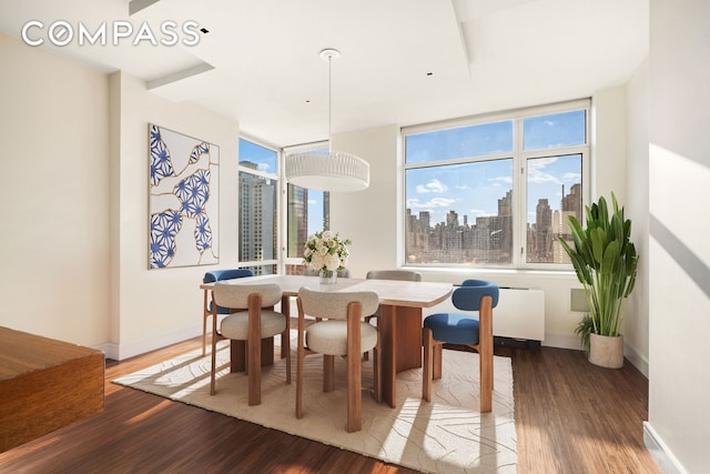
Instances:
[[[229,342],[217,346],[217,393],[210,395],[210,354],[194,351],[113,382],[262,426],[430,473],[515,473],[517,470],[510,359],[494,360],[493,412],[478,413],[478,354],[444,350],[444,376],[432,402],[422,400],[422,371],[397,375],[396,409],[363,394],[363,430],[345,432],[345,363],[336,360],[336,390],[322,392],[322,357],[305,359],[304,417],[295,417],[285,360],[262,372],[262,404],[247,405],[243,373],[230,373]],[[372,356],[363,362],[363,390],[372,387]]]

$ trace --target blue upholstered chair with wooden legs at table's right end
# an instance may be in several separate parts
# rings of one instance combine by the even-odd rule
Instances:
[[[432,401],[432,380],[442,377],[444,344],[467,345],[478,352],[480,412],[493,409],[493,309],[498,304],[498,285],[466,280],[452,293],[452,303],[463,311],[478,311],[478,317],[463,313],[436,313],[424,320],[424,382],[422,397]]]

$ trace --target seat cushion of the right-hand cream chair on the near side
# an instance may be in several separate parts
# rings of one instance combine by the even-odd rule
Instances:
[[[362,352],[377,345],[376,327],[363,322],[359,331]],[[306,330],[306,345],[321,354],[347,355],[347,321],[328,320],[310,325]]]

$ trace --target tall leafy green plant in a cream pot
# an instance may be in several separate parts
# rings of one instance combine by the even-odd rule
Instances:
[[[619,331],[625,300],[636,282],[638,255],[630,241],[631,221],[625,219],[613,192],[611,201],[611,214],[604,196],[585,206],[586,228],[574,215],[568,216],[574,248],[561,236],[558,240],[571,260],[589,305],[575,333],[581,337],[591,363],[618,369],[623,365],[623,339]]]

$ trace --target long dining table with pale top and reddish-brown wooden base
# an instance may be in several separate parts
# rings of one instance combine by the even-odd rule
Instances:
[[[260,275],[223,280],[220,283],[276,283],[282,290],[281,311],[288,316],[291,299],[297,296],[298,290],[303,286],[329,292],[374,291],[377,293],[381,307],[377,326],[382,344],[382,395],[393,409],[396,406],[397,373],[422,366],[422,309],[443,302],[454,290],[450,283],[341,278],[335,284],[320,284],[318,276],[304,275]],[[200,285],[205,294],[213,286],[214,283]],[[267,352],[268,346],[263,351],[262,357],[267,357]],[[232,351],[233,371],[244,370],[243,360],[235,360],[235,357],[243,357],[243,354],[244,351],[241,349]],[[273,363],[273,345],[271,345],[271,354]]]

